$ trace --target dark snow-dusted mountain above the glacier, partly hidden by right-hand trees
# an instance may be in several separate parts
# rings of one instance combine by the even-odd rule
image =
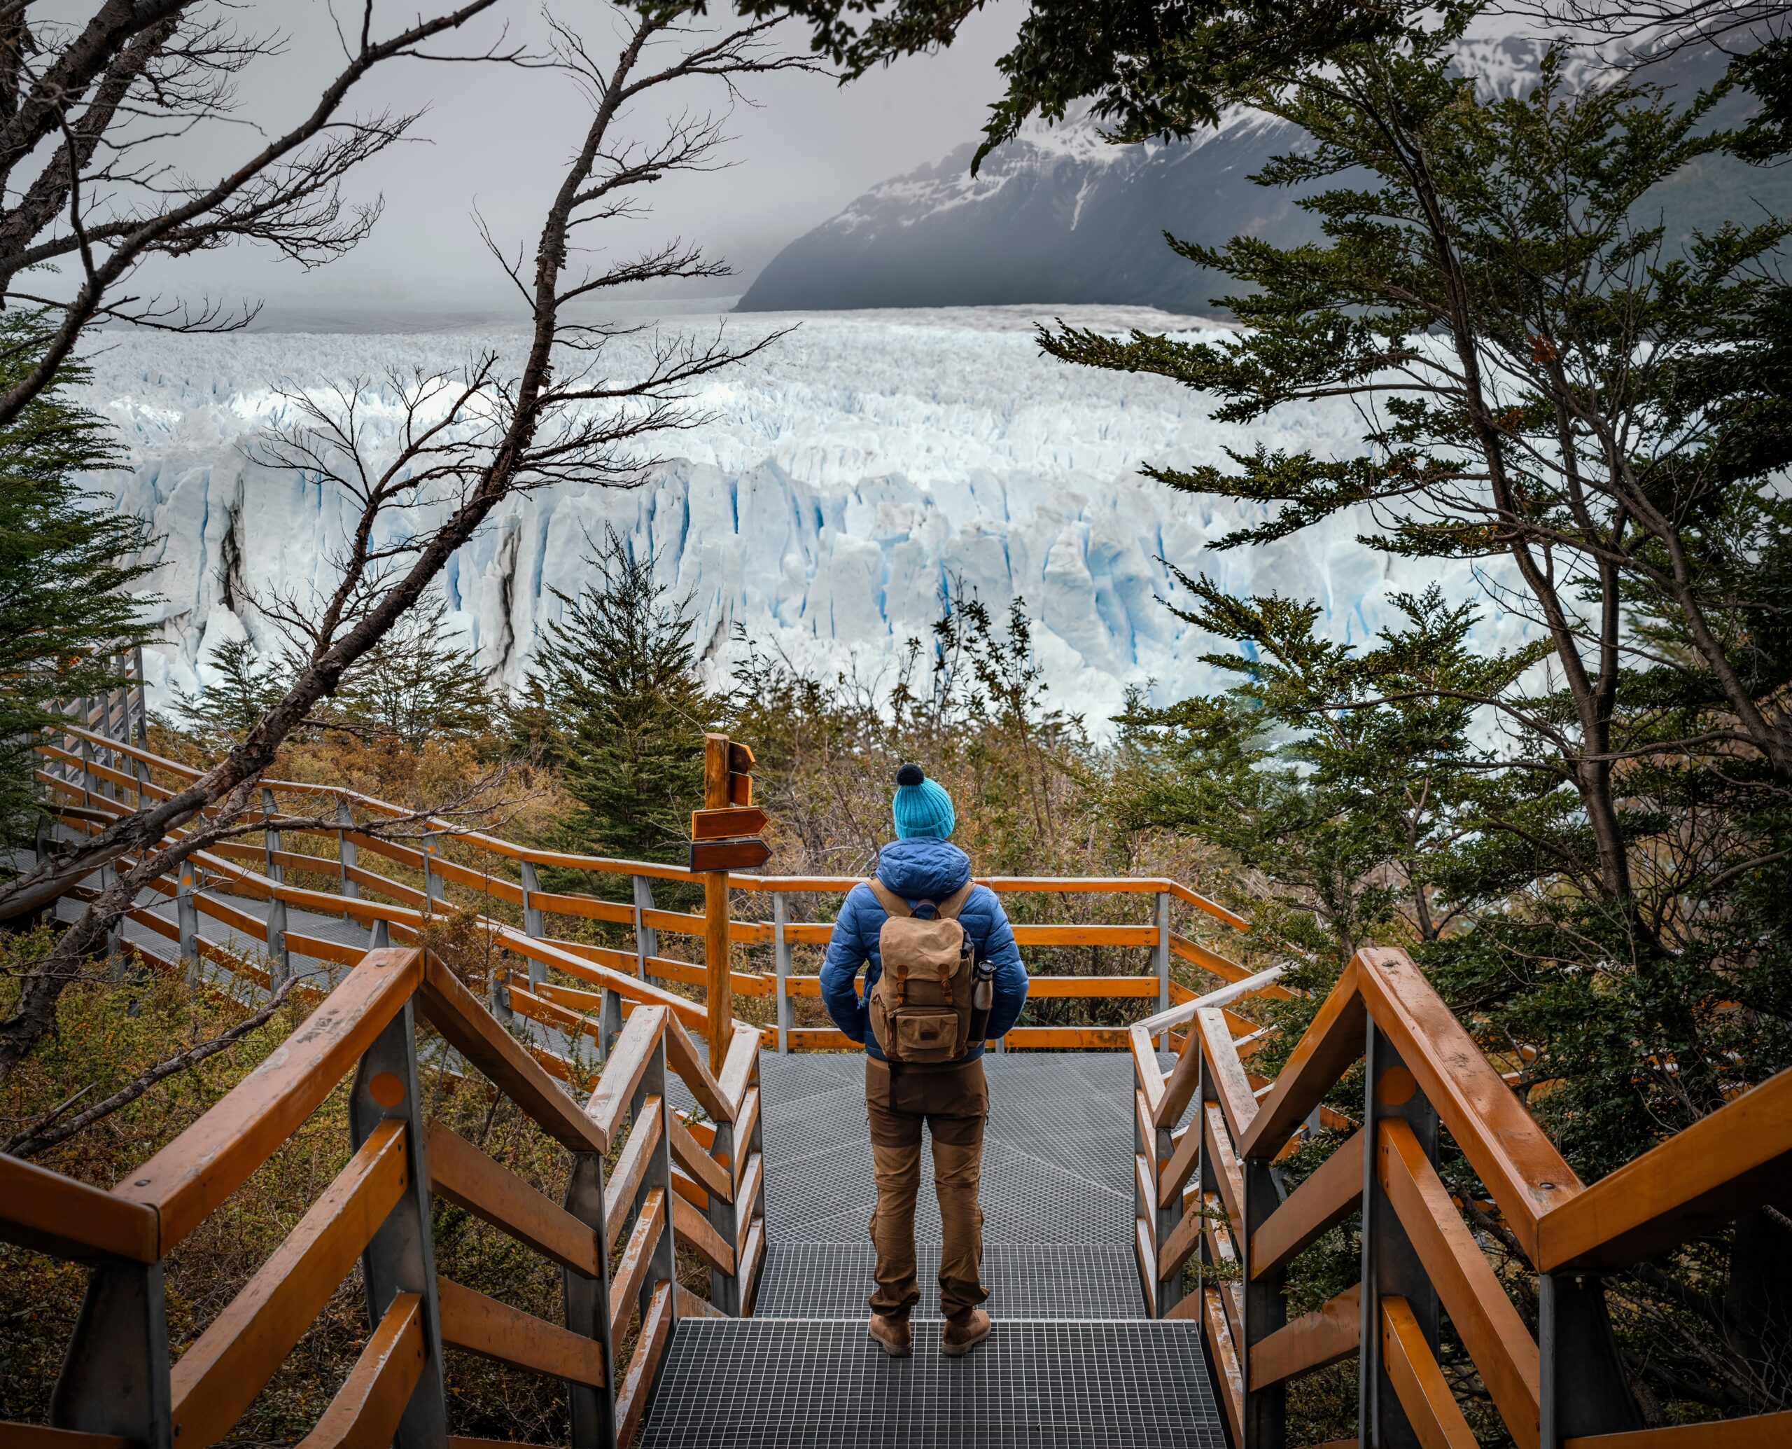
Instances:
[[[1495,18],[1511,27],[1512,18]],[[1460,47],[1464,74],[1496,95],[1536,79],[1541,39],[1489,32]],[[1726,57],[1683,50],[1641,72],[1681,97],[1710,84]],[[1616,72],[1593,50],[1572,52],[1566,79]],[[1720,111],[1724,124],[1747,102]],[[975,307],[987,303],[1124,303],[1213,316],[1231,283],[1165,246],[1163,233],[1202,246],[1251,235],[1288,246],[1319,235],[1294,192],[1251,176],[1296,143],[1294,131],[1235,111],[1217,131],[1179,143],[1109,145],[1086,109],[1061,126],[1029,122],[977,176],[966,143],[937,165],[873,187],[797,237],[767,264],[742,310]],[[1650,195],[1670,228],[1792,210],[1785,169],[1706,158]]]

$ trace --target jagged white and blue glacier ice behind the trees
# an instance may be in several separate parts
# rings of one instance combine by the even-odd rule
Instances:
[[[1052,310],[1109,330],[1213,326],[1147,308]],[[1317,597],[1351,642],[1394,617],[1398,590],[1441,577],[1453,595],[1477,592],[1464,567],[1389,561],[1337,520],[1267,549],[1213,551],[1245,511],[1150,482],[1142,463],[1224,463],[1226,447],[1256,441],[1351,454],[1355,414],[1337,403],[1251,429],[1213,423],[1201,396],[1163,378],[1041,357],[1039,317],[1012,307],[663,319],[726,325],[735,339],[797,328],[708,380],[706,421],[656,439],[663,461],[640,488],[557,484],[505,502],[443,579],[453,628],[496,680],[518,683],[561,613],[552,590],[577,594],[590,540],[615,527],[690,597],[717,680],[742,653],[738,626],[797,667],[887,685],[903,644],[928,638],[962,579],[996,610],[1025,599],[1052,699],[1098,730],[1129,685],[1163,701],[1213,681],[1199,655],[1215,640],[1165,608],[1179,590],[1159,560],[1235,590]],[[398,409],[383,375],[452,368],[486,344],[514,357],[521,334],[106,335],[84,396],[118,425],[127,459],[91,486],[158,534],[163,642],[147,671],[163,703],[206,678],[226,638],[280,647],[256,597],[305,599],[333,583],[339,500],[249,456],[287,412],[280,389],[373,380],[373,427],[389,430]],[[616,341],[613,369],[631,371],[649,344],[650,334]],[[1511,642],[1521,622],[1487,604],[1482,631]]]

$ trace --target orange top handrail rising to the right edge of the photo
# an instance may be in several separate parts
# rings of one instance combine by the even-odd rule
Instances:
[[[1792,1071],[1545,1214],[1539,1266],[1627,1268],[1792,1189]]]

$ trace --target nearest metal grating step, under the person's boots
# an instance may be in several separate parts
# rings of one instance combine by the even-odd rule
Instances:
[[[686,1318],[643,1449],[1224,1449],[1195,1329],[998,1318],[948,1359],[937,1331],[892,1359],[862,1322]]]

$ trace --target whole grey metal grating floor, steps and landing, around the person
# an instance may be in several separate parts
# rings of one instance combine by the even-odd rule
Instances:
[[[939,1207],[921,1150],[916,1350],[866,1334],[876,1189],[864,1058],[760,1058],[767,1254],[756,1316],[685,1320],[649,1449],[1224,1449],[1193,1325],[1143,1316],[1125,1053],[987,1056],[984,1286],[996,1320],[939,1352]]]

